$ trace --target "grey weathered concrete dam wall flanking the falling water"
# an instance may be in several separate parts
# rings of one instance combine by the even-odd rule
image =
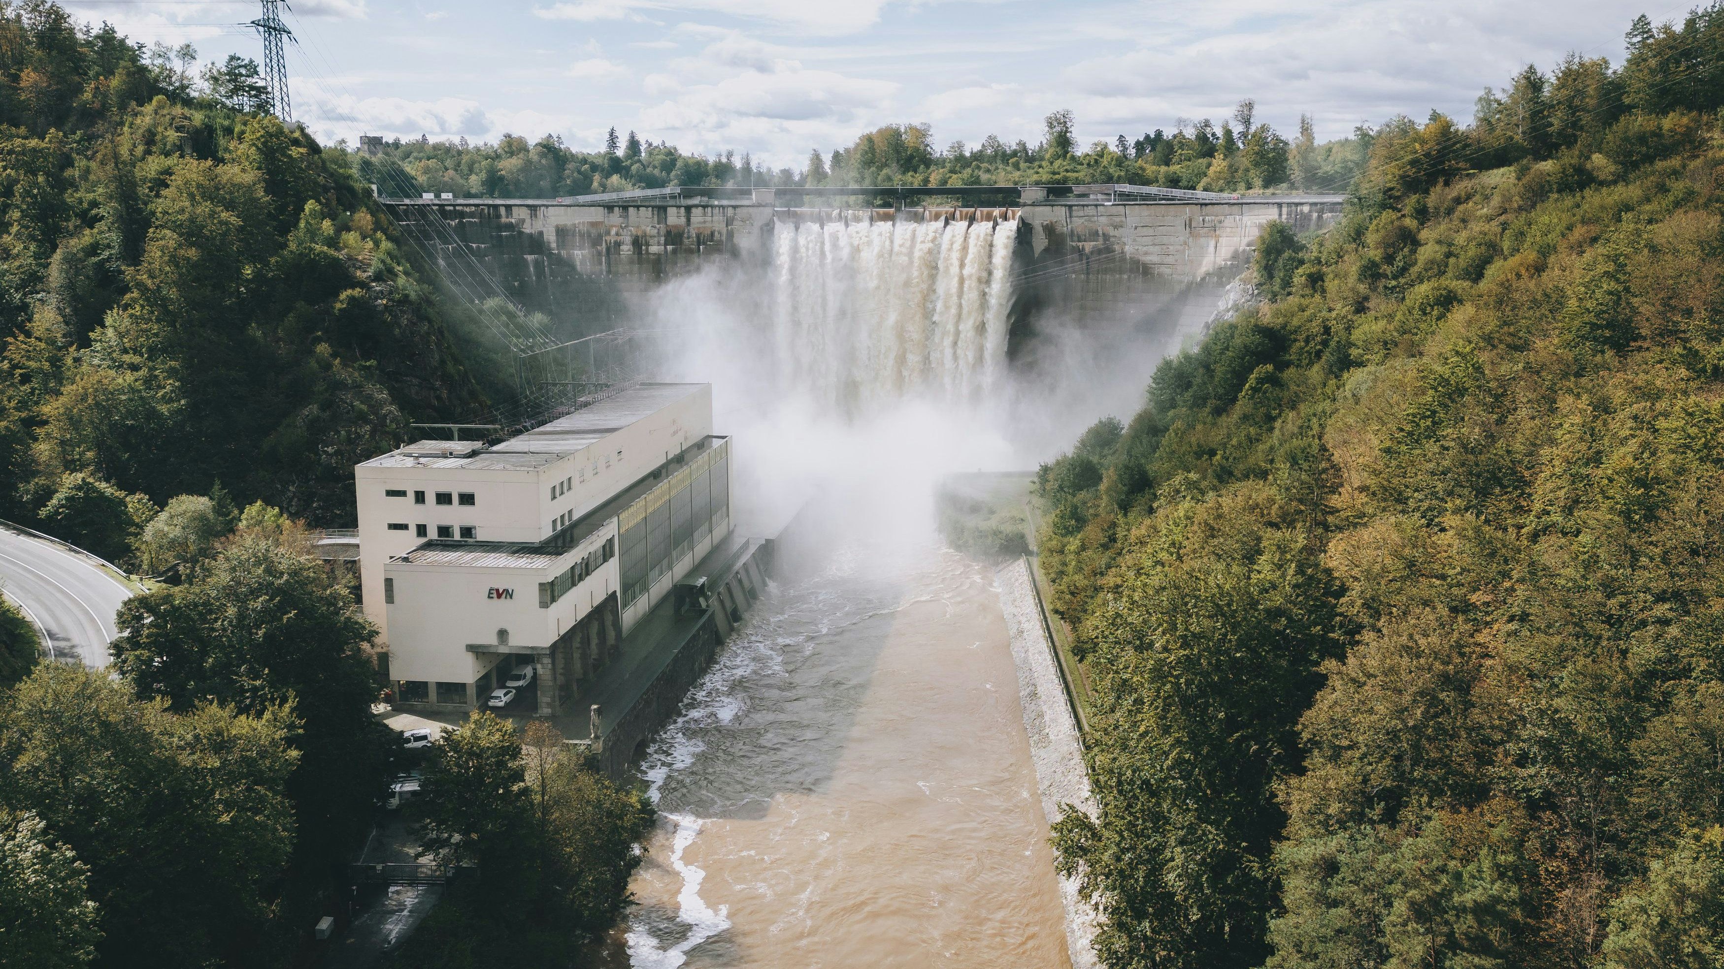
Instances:
[[[559,330],[628,325],[631,306],[667,281],[710,267],[771,279],[774,239],[807,224],[1017,224],[1010,260],[1010,356],[1062,330],[1190,330],[1250,263],[1269,222],[1298,232],[1340,217],[1340,196],[1226,201],[1043,200],[1010,208],[786,208],[771,201],[390,200],[402,229],[436,253],[445,277],[490,274]],[[457,246],[462,251],[457,251]],[[469,265],[471,263],[471,265]]]

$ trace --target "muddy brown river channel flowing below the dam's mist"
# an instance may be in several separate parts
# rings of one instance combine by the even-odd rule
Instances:
[[[993,571],[841,544],[776,583],[652,747],[628,960],[1069,966]]]

